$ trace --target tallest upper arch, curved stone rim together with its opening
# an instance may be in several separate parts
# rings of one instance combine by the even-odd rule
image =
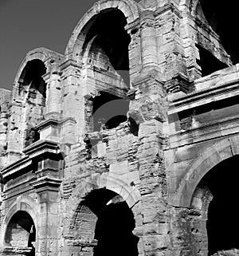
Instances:
[[[109,98],[127,99],[127,91],[131,86],[131,36],[125,26],[131,22],[135,24],[137,20],[139,6],[136,2],[99,1],[80,20],[69,39],[65,50],[66,58],[73,59],[80,66],[83,64],[84,76],[80,79],[86,85],[92,85],[93,81],[93,85],[85,90],[90,110],[85,116],[85,123],[86,130],[90,132],[92,128],[88,128],[88,120],[96,111],[99,101],[107,103]],[[104,93],[109,97],[104,97]],[[101,96],[100,100],[98,96]],[[128,109],[128,102],[126,108]],[[112,128],[117,125],[114,124]]]

